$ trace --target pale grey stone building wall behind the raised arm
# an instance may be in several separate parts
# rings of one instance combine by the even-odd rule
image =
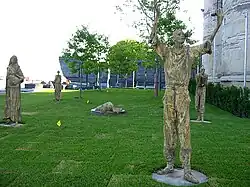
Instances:
[[[211,16],[221,0],[204,0],[204,32],[206,40],[216,26],[216,18]],[[250,17],[249,0],[223,0],[225,17],[215,38],[215,51],[212,55],[203,55],[202,63],[209,75],[209,81],[223,84],[243,85],[245,54],[245,12]],[[220,6],[220,5],[219,5]],[[250,21],[248,22],[250,23]],[[248,24],[250,41],[250,25]],[[247,86],[250,86],[250,42],[248,42]],[[215,57],[215,61],[214,61]]]

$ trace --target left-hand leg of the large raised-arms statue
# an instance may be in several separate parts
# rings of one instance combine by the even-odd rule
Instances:
[[[174,172],[175,162],[175,148],[177,143],[176,132],[176,111],[174,102],[174,90],[166,90],[163,104],[164,104],[164,149],[163,154],[167,161],[167,166],[158,171],[158,174],[164,175]]]

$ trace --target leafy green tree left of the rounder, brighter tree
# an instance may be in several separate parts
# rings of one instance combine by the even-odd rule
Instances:
[[[63,49],[63,58],[72,73],[83,69],[88,83],[88,74],[98,74],[106,62],[109,49],[108,38],[97,33],[90,33],[86,26],[77,29]]]

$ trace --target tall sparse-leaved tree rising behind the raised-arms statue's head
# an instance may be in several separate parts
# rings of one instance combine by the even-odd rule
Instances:
[[[144,41],[148,41],[151,28],[155,19],[156,11],[159,11],[159,21],[157,34],[159,39],[172,45],[172,34],[176,29],[187,29],[185,23],[178,20],[175,16],[177,10],[180,10],[180,2],[182,0],[124,0],[121,6],[116,6],[116,9],[121,14],[137,14],[141,18],[135,20],[132,26],[140,33],[140,37]],[[132,10],[132,11],[129,11]],[[130,15],[131,16],[131,15]],[[192,36],[192,30],[186,31],[186,37]],[[193,44],[196,41],[188,39],[188,43]]]

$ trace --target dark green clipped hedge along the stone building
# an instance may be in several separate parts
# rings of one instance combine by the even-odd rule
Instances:
[[[195,95],[196,81],[190,80],[189,92]],[[250,89],[208,83],[206,102],[241,118],[250,118]]]

